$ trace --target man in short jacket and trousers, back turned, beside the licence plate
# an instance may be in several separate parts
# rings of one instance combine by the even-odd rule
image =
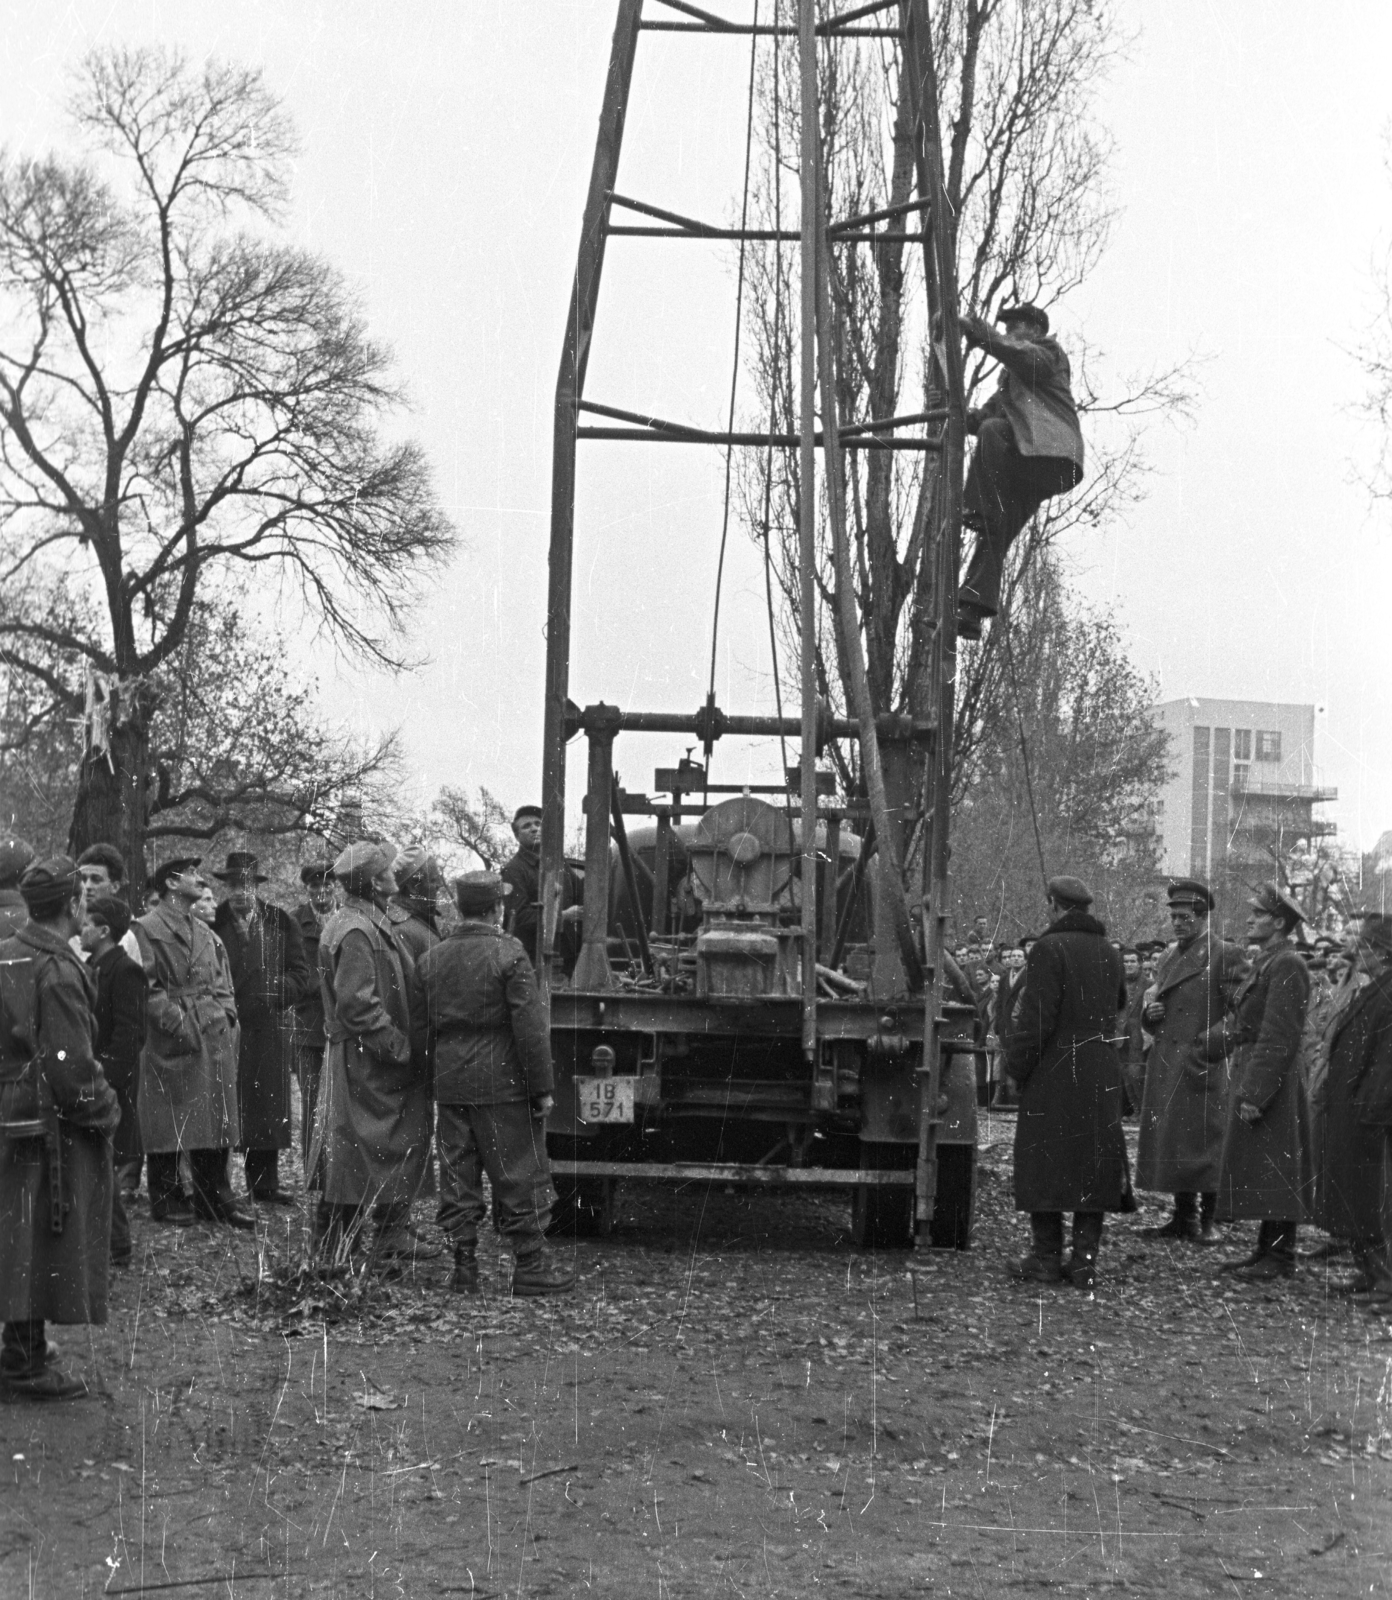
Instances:
[[[544,1245],[555,1202],[546,1008],[526,952],[502,931],[502,878],[466,872],[454,898],[464,920],[419,971],[438,1102],[440,1226],[454,1245],[451,1288],[478,1288],[488,1173],[494,1221],[514,1251],[512,1293],[562,1294],[574,1286],[574,1270]]]

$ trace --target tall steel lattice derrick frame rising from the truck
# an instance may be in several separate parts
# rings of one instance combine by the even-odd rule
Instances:
[[[542,763],[542,842],[541,842],[541,912],[542,912],[542,962],[541,982],[547,989],[550,966],[557,947],[557,928],[565,883],[565,773],[566,741],[579,728],[590,734],[590,810],[603,808],[603,818],[589,818],[587,890],[586,890],[586,955],[597,950],[594,960],[576,974],[576,984],[603,987],[606,958],[603,955],[603,928],[598,918],[606,915],[600,907],[598,883],[590,885],[594,870],[603,880],[608,893],[608,826],[613,802],[618,819],[618,840],[624,851],[622,818],[618,792],[611,794],[613,738],[624,728],[658,731],[690,730],[709,747],[723,733],[789,734],[798,733],[800,749],[800,813],[802,826],[802,1040],[811,1058],[818,1043],[818,936],[826,918],[818,915],[816,904],[816,827],[819,816],[816,789],[816,754],[827,738],[858,738],[861,744],[862,771],[867,776],[869,811],[875,838],[878,840],[880,882],[896,896],[891,907],[899,941],[899,955],[910,987],[922,986],[923,1003],[923,1051],[920,1064],[918,1096],[918,1163],[917,1163],[917,1218],[931,1218],[934,1194],[934,1131],[939,1107],[939,1074],[942,1062],[942,976],[944,976],[944,925],[947,901],[947,832],[950,795],[950,752],[955,680],[955,613],[957,613],[957,557],[962,526],[962,464],[965,435],[965,403],[962,374],[962,342],[957,326],[957,267],[955,267],[955,219],[950,216],[942,179],[942,144],[938,106],[938,82],[933,64],[933,37],[928,0],[877,0],[877,3],[851,5],[837,14],[816,21],[814,0],[795,0],[797,26],[773,22],[739,22],[722,18],[686,0],[654,0],[661,14],[645,16],[643,0],[619,0],[600,112],[598,139],[581,229],[579,258],[571,290],[566,336],[562,350],[560,373],[555,390],[554,421],[554,477],[550,509],[550,565],[547,595],[547,654],[546,654],[546,722]],[[802,90],[802,224],[797,232],[782,229],[730,229],[714,227],[682,213],[635,200],[618,190],[619,155],[624,139],[624,120],[634,74],[640,34],[645,30],[707,34],[733,37],[797,38]],[[902,82],[909,94],[914,120],[915,197],[896,206],[862,216],[830,221],[826,214],[826,184],[822,176],[822,152],[818,117],[816,51],[835,48],[845,38],[896,40],[899,46]],[[643,224],[613,221],[614,211],[648,219]],[[930,355],[930,403],[910,416],[890,418],[875,424],[840,426],[835,408],[834,349],[829,310],[829,261],[834,248],[856,248],[864,242],[883,240],[875,232],[877,222],[914,221],[915,230],[896,235],[922,245],[928,326],[931,330]],[[786,240],[800,245],[802,259],[802,370],[800,370],[800,424],[797,434],[734,432],[693,427],[680,421],[651,416],[642,411],[621,410],[590,400],[584,394],[586,368],[595,333],[600,278],[605,248],[611,237],[627,238],[690,238],[690,240]],[[816,402],[821,392],[821,427],[816,426]],[[581,422],[581,416],[603,418],[606,426]],[[627,443],[685,443],[798,450],[802,456],[802,526],[800,526],[800,582],[802,582],[802,707],[800,717],[731,717],[714,706],[714,698],[691,717],[667,717],[643,712],[619,712],[616,707],[597,706],[581,712],[570,701],[570,638],[571,638],[571,565],[574,542],[576,458],[581,440],[608,440]],[[822,482],[829,490],[829,510],[834,541],[845,541],[843,507],[840,504],[842,453],[848,450],[918,451],[936,474],[933,528],[930,531],[930,555],[933,574],[931,621],[933,648],[931,669],[926,682],[912,686],[912,718],[907,726],[896,728],[896,718],[877,717],[869,709],[869,690],[853,682],[851,715],[830,718],[818,704],[813,674],[814,653],[814,483],[816,451],[822,453]],[[848,586],[842,586],[846,589]],[[850,595],[846,594],[846,598]],[[854,632],[854,630],[853,630]],[[859,654],[859,635],[854,635]],[[854,667],[854,662],[853,662]],[[861,667],[861,680],[864,669]],[[853,670],[854,680],[854,670]],[[858,694],[858,690],[862,693]],[[898,718],[899,723],[906,722]],[[917,808],[923,813],[922,885],[918,896],[904,893],[902,874],[885,872],[886,864],[902,862],[906,840],[899,824],[899,810],[890,808],[885,797],[880,744],[883,738],[899,736],[914,741],[912,773],[918,782]],[[906,763],[899,762],[901,773]],[[922,904],[922,930],[910,928],[910,906]],[[592,904],[594,902],[594,904]],[[835,931],[835,907],[830,928]],[[906,938],[907,931],[907,938]],[[917,933],[917,936],[915,936]],[[646,946],[645,946],[646,950]]]

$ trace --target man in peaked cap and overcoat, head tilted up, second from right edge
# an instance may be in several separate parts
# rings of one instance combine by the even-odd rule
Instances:
[[[1310,974],[1290,936],[1301,907],[1275,883],[1248,901],[1246,936],[1258,954],[1234,997],[1234,1016],[1213,1030],[1210,1054],[1232,1051],[1227,1126],[1218,1173],[1218,1219],[1256,1219],[1256,1250],[1221,1270],[1250,1280],[1288,1278],[1296,1229],[1310,1205],[1310,1114],[1301,1075],[1301,1035]]]

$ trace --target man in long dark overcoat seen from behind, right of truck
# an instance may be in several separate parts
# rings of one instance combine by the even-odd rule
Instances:
[[[1122,1131],[1122,1064],[1110,1043],[1125,995],[1122,957],[1072,877],[1050,878],[1053,922],[1030,949],[1005,1051],[1021,1085],[1014,1203],[1030,1213],[1034,1253],[1014,1275],[1096,1283],[1102,1214],[1134,1206]],[[1064,1211],[1074,1253],[1062,1264]]]

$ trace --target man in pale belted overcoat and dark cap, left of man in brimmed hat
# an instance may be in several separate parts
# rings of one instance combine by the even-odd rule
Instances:
[[[131,923],[146,970],[146,1048],[138,1106],[157,1222],[253,1229],[227,1190],[237,1112],[237,1000],[221,941],[192,915],[203,893],[198,858],[165,861],[150,878],[158,904]],[[179,1186],[189,1157],[192,1206]]]

